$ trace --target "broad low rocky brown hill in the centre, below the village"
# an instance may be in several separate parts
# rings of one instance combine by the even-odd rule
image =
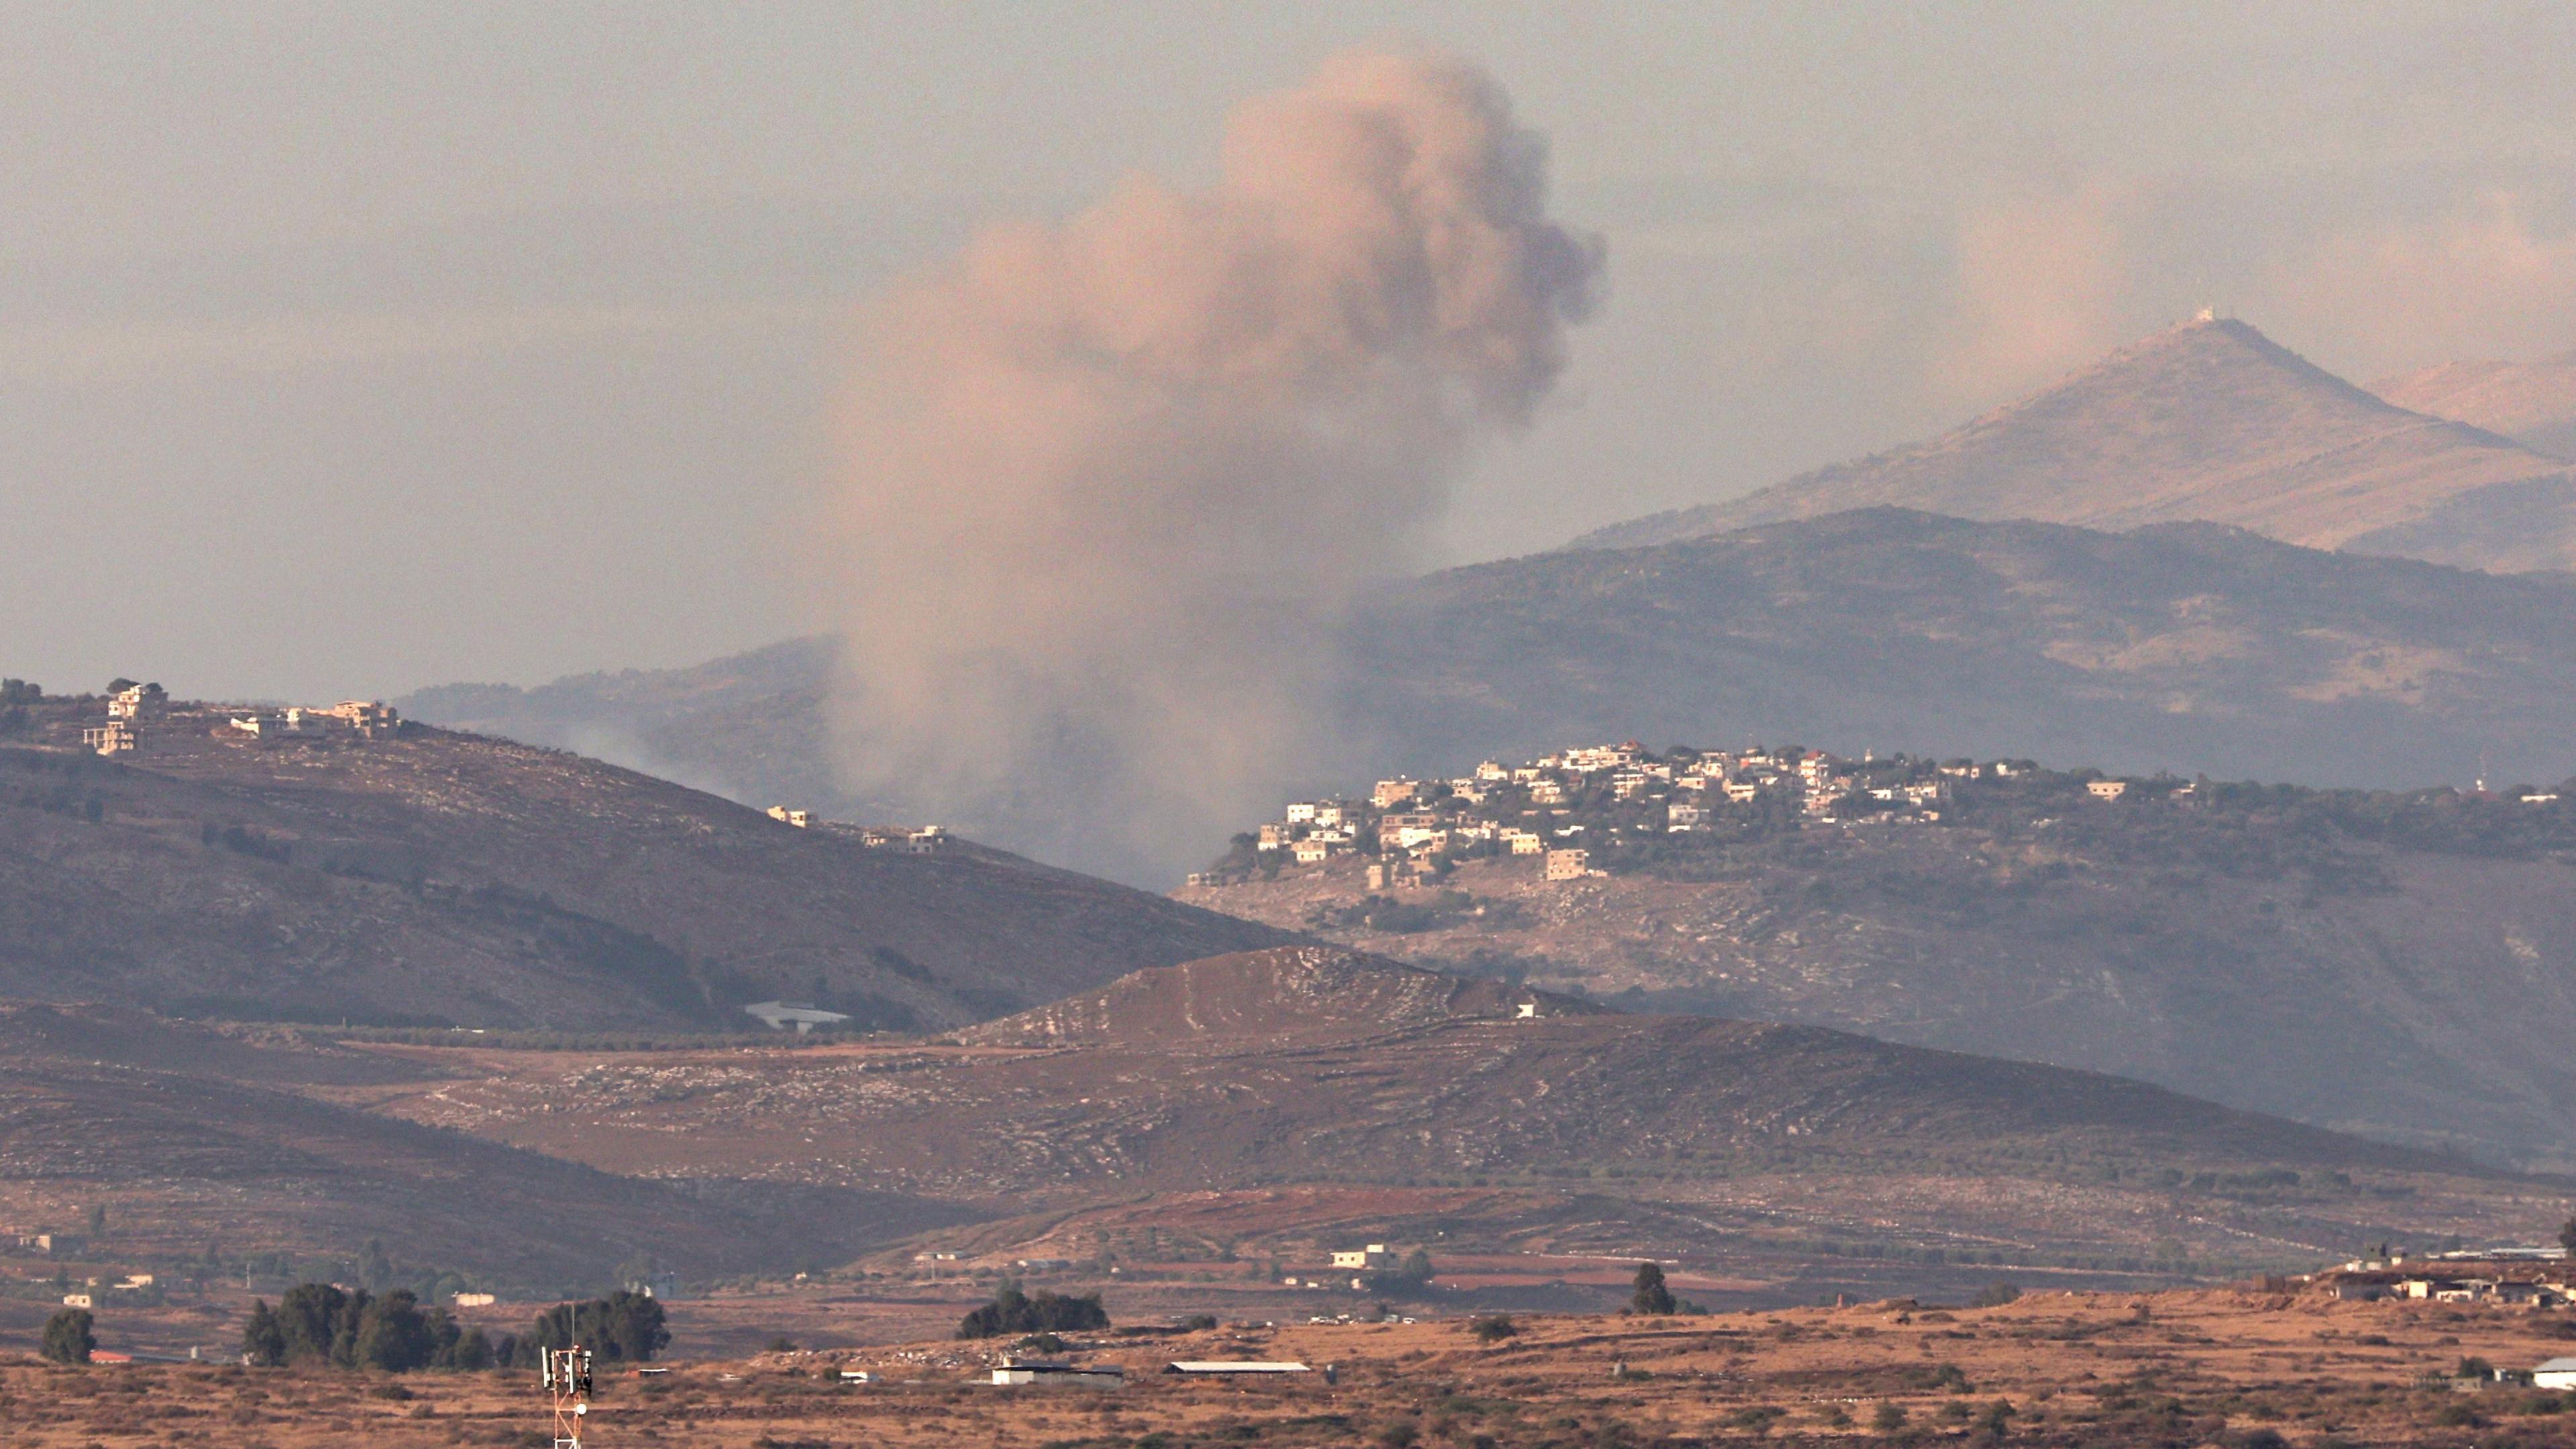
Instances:
[[[1236,1235],[1314,1235],[1437,1189],[1425,1227],[1453,1243],[1510,1222],[1600,1250],[1759,1235],[2094,1261],[2172,1238],[2236,1263],[2380,1225],[2540,1220],[2563,1196],[2133,1080],[1816,1026],[1448,1011],[1492,985],[1298,951],[1195,975],[1224,1031],[1157,1008],[1185,980],[1162,969],[1072,1008],[1136,1003],[1113,1031],[1043,1047],[994,1047],[1046,1031],[992,1024],[956,1047],[438,1052],[471,1080],[376,1101],[631,1176],[940,1201],[994,1220],[979,1243],[997,1253],[1007,1232],[1087,1253],[1069,1227],[1087,1214],[1172,1227],[1224,1204]]]

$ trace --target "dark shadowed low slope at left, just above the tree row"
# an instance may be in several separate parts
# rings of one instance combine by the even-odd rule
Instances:
[[[116,1060],[149,1044],[191,1070]],[[121,1008],[18,1008],[0,1039],[0,1204],[13,1222],[111,1204],[103,1248],[129,1258],[209,1243],[355,1256],[379,1238],[399,1261],[531,1292],[600,1284],[641,1253],[701,1276],[778,1269],[958,1217],[866,1191],[793,1201],[616,1178],[260,1085],[368,1080],[381,1093],[440,1075],[399,1060],[348,1070],[350,1057],[219,1042]]]

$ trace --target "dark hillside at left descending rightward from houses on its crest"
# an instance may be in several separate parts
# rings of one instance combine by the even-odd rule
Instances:
[[[0,737],[0,998],[585,1031],[811,998],[914,1029],[1283,938],[505,740],[255,740],[180,706],[103,761],[77,745],[98,717],[41,701]]]

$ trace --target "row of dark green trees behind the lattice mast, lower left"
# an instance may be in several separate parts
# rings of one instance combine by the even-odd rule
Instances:
[[[662,1302],[618,1289],[590,1302],[559,1302],[528,1333],[487,1336],[459,1328],[443,1307],[422,1312],[410,1289],[371,1294],[337,1284],[296,1284],[276,1307],[260,1299],[242,1328],[242,1354],[260,1366],[337,1369],[495,1369],[533,1366],[544,1348],[585,1346],[600,1359],[649,1361],[670,1346]]]

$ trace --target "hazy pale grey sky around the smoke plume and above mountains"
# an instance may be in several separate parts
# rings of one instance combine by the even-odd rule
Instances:
[[[811,627],[848,320],[1473,57],[1610,289],[1425,567],[1922,436],[2205,302],[2576,348],[2563,5],[0,8],[0,673],[325,699]]]

